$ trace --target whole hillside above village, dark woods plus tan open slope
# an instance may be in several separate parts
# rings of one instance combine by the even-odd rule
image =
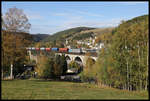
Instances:
[[[114,28],[90,28],[90,27],[76,27],[57,32],[51,36],[48,36],[43,42],[49,41],[64,41],[67,40],[82,40],[93,36],[98,36],[103,33],[111,32]]]

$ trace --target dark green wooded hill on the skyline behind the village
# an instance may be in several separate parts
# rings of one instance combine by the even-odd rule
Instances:
[[[92,30],[92,29],[95,29],[95,28],[90,28],[90,27],[71,28],[71,29],[67,29],[64,31],[57,32],[53,35],[50,35],[49,37],[45,38],[42,41],[48,42],[48,41],[54,41],[54,40],[64,40],[66,38],[72,37],[72,36],[80,33],[81,31]]]

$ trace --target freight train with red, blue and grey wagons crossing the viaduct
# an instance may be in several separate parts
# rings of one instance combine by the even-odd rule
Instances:
[[[86,52],[96,52],[95,49],[81,49],[81,48],[76,48],[76,49],[69,49],[69,48],[35,48],[35,47],[30,47],[27,48],[27,50],[36,50],[36,51],[54,51],[54,52],[62,52],[62,53],[86,53]]]

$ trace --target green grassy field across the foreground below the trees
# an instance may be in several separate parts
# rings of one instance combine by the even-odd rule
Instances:
[[[44,80],[2,81],[2,99],[148,99],[148,92]]]

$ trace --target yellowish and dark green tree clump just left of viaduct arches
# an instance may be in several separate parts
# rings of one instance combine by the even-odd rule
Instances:
[[[65,55],[54,55],[54,57],[38,56],[35,67],[38,78],[54,79],[65,75],[67,71],[67,61]]]

